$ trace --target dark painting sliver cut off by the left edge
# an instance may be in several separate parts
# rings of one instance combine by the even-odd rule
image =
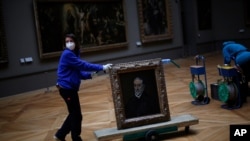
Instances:
[[[8,63],[8,53],[6,47],[6,36],[4,30],[2,1],[0,2],[0,67]]]

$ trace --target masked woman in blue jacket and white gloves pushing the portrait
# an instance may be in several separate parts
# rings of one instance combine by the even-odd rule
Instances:
[[[82,141],[82,112],[78,96],[81,80],[91,79],[96,71],[108,71],[112,64],[100,65],[84,61],[80,58],[80,48],[74,34],[65,36],[65,49],[61,54],[57,70],[57,87],[64,99],[68,116],[54,138],[65,141],[65,137],[71,132],[73,141]]]

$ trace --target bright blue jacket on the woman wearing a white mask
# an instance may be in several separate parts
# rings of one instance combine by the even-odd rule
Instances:
[[[92,64],[80,58],[74,51],[65,49],[57,69],[57,85],[64,89],[79,90],[81,80],[91,79],[91,72],[103,70],[103,65]]]

